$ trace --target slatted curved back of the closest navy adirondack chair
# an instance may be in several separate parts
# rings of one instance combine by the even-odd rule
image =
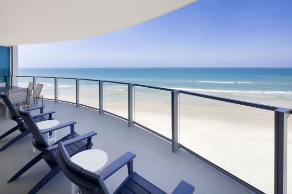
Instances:
[[[81,190],[82,194],[109,194],[102,177],[72,162],[62,142],[58,143],[56,152],[58,164],[62,171]]]

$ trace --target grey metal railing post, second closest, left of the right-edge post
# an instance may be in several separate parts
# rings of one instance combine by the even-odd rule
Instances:
[[[172,151],[176,152],[179,146],[179,122],[178,122],[178,97],[180,91],[171,91],[171,140],[172,140]]]

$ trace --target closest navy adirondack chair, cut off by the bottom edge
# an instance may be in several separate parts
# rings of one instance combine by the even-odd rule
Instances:
[[[109,194],[104,180],[126,164],[128,166],[128,177],[114,194],[166,194],[133,171],[133,158],[136,156],[130,152],[127,152],[97,174],[73,163],[61,141],[58,142],[58,146],[56,156],[59,165],[67,178],[79,187],[79,194]],[[195,187],[182,180],[172,194],[192,194],[194,191]]]

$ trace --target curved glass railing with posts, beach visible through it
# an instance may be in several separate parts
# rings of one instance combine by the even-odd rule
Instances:
[[[17,78],[20,87],[34,80]],[[172,151],[182,148],[254,193],[292,192],[290,109],[125,82],[45,77],[37,82],[44,83],[45,97],[54,99],[55,91],[56,102],[136,124],[169,141]]]

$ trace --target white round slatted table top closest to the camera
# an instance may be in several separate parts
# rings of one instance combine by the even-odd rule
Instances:
[[[75,154],[71,160],[88,171],[98,172],[108,162],[108,155],[100,149],[89,149]]]

